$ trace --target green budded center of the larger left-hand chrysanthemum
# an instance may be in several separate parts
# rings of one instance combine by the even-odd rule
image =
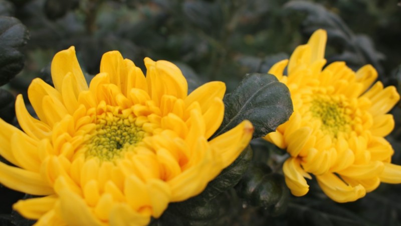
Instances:
[[[142,141],[148,133],[135,125],[136,118],[121,112],[103,112],[96,116],[96,130],[88,141],[85,156],[98,157],[101,161],[113,161],[123,157]]]

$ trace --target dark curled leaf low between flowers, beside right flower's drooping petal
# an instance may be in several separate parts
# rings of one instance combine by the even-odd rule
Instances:
[[[284,177],[265,164],[251,165],[236,189],[251,205],[263,206],[272,214],[283,213],[287,208],[289,190]]]

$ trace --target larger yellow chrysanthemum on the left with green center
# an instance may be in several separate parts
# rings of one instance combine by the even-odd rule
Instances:
[[[74,47],[52,62],[54,88],[37,78],[21,95],[21,130],[0,121],[0,182],[43,197],[13,207],[35,225],[144,225],[169,202],[202,192],[248,145],[244,121],[208,141],[222,123],[225,84],[187,95],[181,71],[145,59],[146,77],[117,51],[103,55],[88,87]]]

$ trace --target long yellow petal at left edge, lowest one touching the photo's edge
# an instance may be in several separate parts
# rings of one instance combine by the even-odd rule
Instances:
[[[53,194],[53,188],[39,173],[8,166],[0,162],[0,183],[11,189],[33,195]]]

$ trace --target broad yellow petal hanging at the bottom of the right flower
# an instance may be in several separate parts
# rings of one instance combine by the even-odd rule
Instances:
[[[366,194],[362,185],[347,185],[333,173],[318,175],[316,178],[323,192],[336,202],[355,201]]]

